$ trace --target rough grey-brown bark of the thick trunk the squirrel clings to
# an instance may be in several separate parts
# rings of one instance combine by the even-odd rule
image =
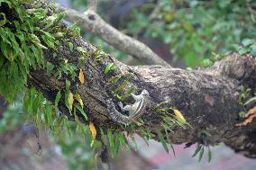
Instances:
[[[65,28],[65,25],[61,25],[60,28]],[[73,43],[74,50],[69,49],[65,39]],[[46,60],[58,65],[59,58],[62,58],[78,65],[81,55],[77,47],[82,47],[87,52],[96,50],[94,46],[80,38],[66,36],[65,39],[59,39],[61,43],[54,51],[57,58],[52,57],[53,51],[50,49],[44,50]],[[110,119],[105,101],[112,98],[114,103],[118,102],[112,91],[125,77],[123,76],[116,85],[109,84],[107,80],[110,76],[133,73],[128,86],[134,86],[137,89],[136,94],[143,89],[150,93],[150,102],[142,114],[143,128],[152,132],[163,130],[160,113],[155,112],[154,108],[159,103],[168,102],[169,106],[176,107],[182,112],[192,127],[186,130],[173,128],[174,133],[169,133],[169,139],[173,143],[198,142],[215,145],[224,142],[247,157],[256,157],[255,121],[247,126],[235,126],[236,123],[243,121],[238,115],[243,109],[238,103],[241,93],[239,86],[245,85],[254,90],[256,88],[255,58],[230,54],[217,61],[213,67],[187,71],[163,66],[130,67],[118,62],[111,55],[102,53],[100,62],[97,62],[95,57],[95,52],[92,52],[83,60],[85,84],[81,85],[77,78],[75,82],[71,81],[70,90],[73,94],[80,94],[88,121],[93,121],[97,127],[113,130],[120,128],[119,123]],[[104,69],[110,63],[114,63],[117,69],[105,75]],[[35,86],[50,101],[54,101],[58,89],[65,91],[65,80],[69,79],[69,76],[60,79],[47,76],[44,69],[31,70],[30,75],[28,85]],[[64,100],[60,100],[59,110],[67,116],[70,115]],[[72,117],[69,116],[69,119],[72,120]],[[202,130],[207,130],[211,136],[203,137]]]

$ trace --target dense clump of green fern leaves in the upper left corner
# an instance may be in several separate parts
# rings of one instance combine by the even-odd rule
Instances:
[[[30,69],[47,67],[42,50],[55,49],[58,41],[48,30],[63,18],[63,14],[47,17],[48,10],[40,6],[23,10],[22,1],[1,0],[0,27],[0,94],[8,102],[26,85]],[[44,27],[42,30],[36,25]]]

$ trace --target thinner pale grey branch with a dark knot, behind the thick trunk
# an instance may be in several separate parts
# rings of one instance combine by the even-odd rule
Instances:
[[[70,22],[78,22],[78,25],[87,31],[96,33],[105,42],[114,46],[117,49],[121,49],[124,52],[131,54],[134,58],[138,58],[145,64],[149,65],[162,65],[169,66],[169,64],[155,54],[149,47],[135,40],[120,31],[117,31],[106,23],[95,10],[87,9],[85,13],[78,13],[75,10],[66,8],[61,4],[56,4],[59,12],[67,13],[66,19]]]

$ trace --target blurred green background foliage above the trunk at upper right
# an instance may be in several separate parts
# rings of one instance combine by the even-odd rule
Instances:
[[[134,10],[128,29],[132,34],[145,31],[146,36],[169,44],[174,60],[183,58],[189,67],[198,65],[212,52],[224,53],[233,49],[233,44],[243,39],[248,44],[247,39],[255,37],[248,7],[255,7],[254,1],[163,0],[158,5],[160,11],[152,19],[149,10]],[[250,48],[253,53],[254,45]]]

